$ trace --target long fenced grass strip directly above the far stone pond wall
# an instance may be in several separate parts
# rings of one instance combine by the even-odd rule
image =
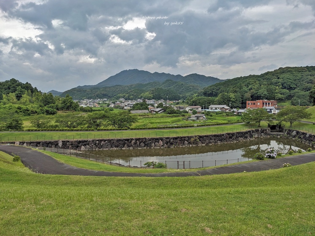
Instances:
[[[266,128],[266,125],[263,125]],[[125,130],[125,131],[47,131],[47,132],[1,132],[0,142],[14,141],[36,141],[36,140],[72,140],[93,138],[153,138],[153,137],[176,137],[206,135],[225,132],[237,132],[257,128],[257,126],[246,126],[245,124],[192,127],[182,129],[152,129],[152,130]],[[314,131],[315,132],[315,131]]]

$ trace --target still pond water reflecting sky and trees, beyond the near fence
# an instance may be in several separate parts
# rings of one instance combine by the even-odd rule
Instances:
[[[214,160],[237,160],[247,158],[250,160],[257,152],[275,148],[277,152],[287,153],[288,150],[309,148],[306,144],[287,138],[256,138],[253,140],[224,143],[194,147],[154,148],[154,149],[118,149],[118,150],[86,150],[85,152],[106,156],[120,160],[134,161],[214,161]]]

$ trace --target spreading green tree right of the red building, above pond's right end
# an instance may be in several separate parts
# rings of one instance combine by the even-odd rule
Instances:
[[[306,107],[300,106],[286,106],[282,110],[280,110],[277,114],[277,119],[290,123],[290,127],[296,121],[300,121],[302,119],[310,119],[312,114],[306,111]]]

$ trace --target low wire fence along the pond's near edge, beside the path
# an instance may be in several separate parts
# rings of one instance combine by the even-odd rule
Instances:
[[[69,149],[58,149],[58,148],[44,148],[44,147],[37,147],[39,150],[46,150],[58,154],[69,155],[72,157],[82,158],[85,160],[96,161],[101,163],[106,163],[109,165],[115,166],[122,166],[122,167],[130,167],[130,168],[150,168],[144,166],[147,160],[123,160],[123,159],[116,159],[106,156],[99,156],[90,153],[84,153],[76,150],[69,150]],[[210,167],[210,166],[221,166],[227,165],[232,163],[238,163],[242,161],[252,160],[251,158],[237,158],[237,159],[227,159],[227,160],[201,160],[201,161],[170,161],[165,160],[163,164],[170,169],[194,169],[194,168],[203,168],[203,167]],[[158,162],[157,160],[150,160],[149,162]],[[161,161],[160,161],[161,162]],[[154,168],[151,167],[151,168]]]

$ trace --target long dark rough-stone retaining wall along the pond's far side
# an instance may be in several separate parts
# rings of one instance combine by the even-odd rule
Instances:
[[[192,145],[209,145],[232,143],[259,137],[268,137],[270,129],[253,129],[241,132],[223,134],[160,137],[160,138],[116,138],[116,139],[89,139],[89,140],[59,140],[59,141],[27,141],[15,142],[15,145],[32,147],[47,147],[72,150],[99,150],[99,149],[137,149],[137,148],[169,148],[186,147]],[[196,138],[197,139],[196,139]],[[195,138],[195,139],[194,139]],[[199,140],[199,141],[198,141]]]

